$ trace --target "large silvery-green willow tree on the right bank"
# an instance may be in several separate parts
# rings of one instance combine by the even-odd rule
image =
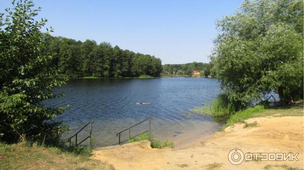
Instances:
[[[275,91],[281,104],[303,97],[302,1],[245,1],[218,20],[216,77],[229,100],[245,106]]]

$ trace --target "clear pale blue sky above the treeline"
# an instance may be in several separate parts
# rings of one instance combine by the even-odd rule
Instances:
[[[217,35],[215,20],[234,13],[242,1],[34,1],[54,36],[110,42],[155,55],[163,64],[209,62]],[[0,1],[0,12],[12,7]]]

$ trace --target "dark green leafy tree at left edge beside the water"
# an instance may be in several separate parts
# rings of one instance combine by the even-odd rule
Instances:
[[[0,134],[1,140],[16,142],[21,134],[37,142],[58,143],[67,130],[52,121],[64,108],[45,107],[43,100],[58,97],[52,88],[64,84],[56,80],[51,53],[45,53],[41,33],[46,19],[35,21],[40,8],[31,1],[13,1],[14,8],[0,14]]]

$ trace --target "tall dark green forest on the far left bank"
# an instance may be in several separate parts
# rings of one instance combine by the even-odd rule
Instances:
[[[160,76],[162,61],[148,54],[65,37],[46,35],[46,52],[54,53],[52,63],[67,77],[138,77]]]

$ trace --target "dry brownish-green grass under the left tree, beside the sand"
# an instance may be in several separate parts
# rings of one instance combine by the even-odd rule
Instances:
[[[68,151],[35,143],[0,142],[0,153],[4,157],[0,169],[114,169],[105,162],[90,159],[91,152],[84,147]]]

